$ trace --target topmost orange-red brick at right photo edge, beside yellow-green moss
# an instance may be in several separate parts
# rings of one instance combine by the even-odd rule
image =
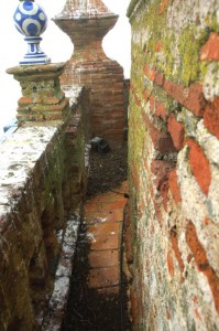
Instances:
[[[200,60],[219,61],[219,33],[210,33],[209,40],[201,49]]]

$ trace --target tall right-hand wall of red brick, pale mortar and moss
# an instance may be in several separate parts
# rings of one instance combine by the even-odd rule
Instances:
[[[134,330],[219,330],[218,11],[215,0],[128,10]]]

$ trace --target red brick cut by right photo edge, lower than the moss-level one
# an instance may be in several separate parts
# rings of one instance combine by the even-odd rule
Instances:
[[[219,97],[207,105],[204,114],[204,124],[219,139]]]

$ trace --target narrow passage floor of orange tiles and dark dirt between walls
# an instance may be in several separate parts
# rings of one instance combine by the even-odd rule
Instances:
[[[128,285],[121,270],[127,151],[92,154],[90,167],[62,331],[128,331]]]

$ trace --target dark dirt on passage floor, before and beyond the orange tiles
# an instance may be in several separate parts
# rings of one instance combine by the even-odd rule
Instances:
[[[127,180],[127,146],[111,149],[107,153],[91,151],[87,199],[116,190]],[[87,286],[88,253],[86,224],[81,223],[62,331],[130,331],[127,281],[123,273],[118,295],[106,295],[90,289]]]

